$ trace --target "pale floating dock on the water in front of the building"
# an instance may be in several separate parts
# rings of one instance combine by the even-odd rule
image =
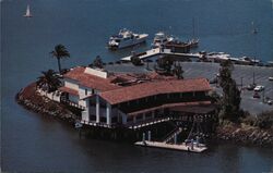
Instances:
[[[178,151],[189,151],[189,152],[203,152],[207,149],[204,145],[200,144],[197,146],[194,144],[193,146],[191,145],[186,145],[185,143],[182,144],[167,144],[167,143],[162,143],[162,141],[136,141],[134,143],[135,146],[141,146],[141,147],[153,147],[153,148],[163,148],[163,149],[171,149],[171,150],[178,150]]]

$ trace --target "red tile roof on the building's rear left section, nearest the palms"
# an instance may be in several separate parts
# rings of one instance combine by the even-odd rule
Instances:
[[[74,79],[79,84],[94,88],[100,91],[117,89],[119,86],[111,83],[112,77],[102,78],[95,75],[84,73],[85,67],[78,66],[64,74],[64,77]]]

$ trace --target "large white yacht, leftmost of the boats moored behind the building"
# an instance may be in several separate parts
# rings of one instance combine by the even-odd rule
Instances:
[[[108,41],[108,48],[112,50],[127,48],[145,42],[147,34],[135,34],[129,29],[121,29],[118,35],[111,36]]]

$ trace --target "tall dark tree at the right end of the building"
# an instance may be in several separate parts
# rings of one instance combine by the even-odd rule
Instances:
[[[219,86],[223,89],[221,119],[237,122],[241,113],[241,98],[240,90],[235,79],[232,78],[233,69],[233,63],[229,60],[221,63]]]

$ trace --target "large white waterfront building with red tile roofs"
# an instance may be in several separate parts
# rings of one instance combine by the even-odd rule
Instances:
[[[62,101],[82,109],[92,126],[132,127],[169,120],[197,109],[211,112],[206,78],[176,79],[150,74],[114,74],[75,67],[63,76]]]

